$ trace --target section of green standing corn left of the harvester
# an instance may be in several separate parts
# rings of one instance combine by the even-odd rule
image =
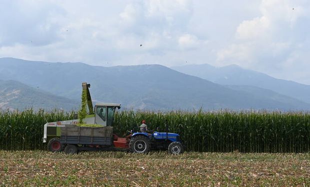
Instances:
[[[43,125],[47,122],[72,119],[73,113],[44,112],[32,109],[23,112],[0,112],[0,149],[46,150],[42,143]]]

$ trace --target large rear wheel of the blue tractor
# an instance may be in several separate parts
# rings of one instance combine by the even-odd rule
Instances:
[[[147,153],[150,150],[150,141],[145,136],[131,138],[129,148],[133,153]]]

